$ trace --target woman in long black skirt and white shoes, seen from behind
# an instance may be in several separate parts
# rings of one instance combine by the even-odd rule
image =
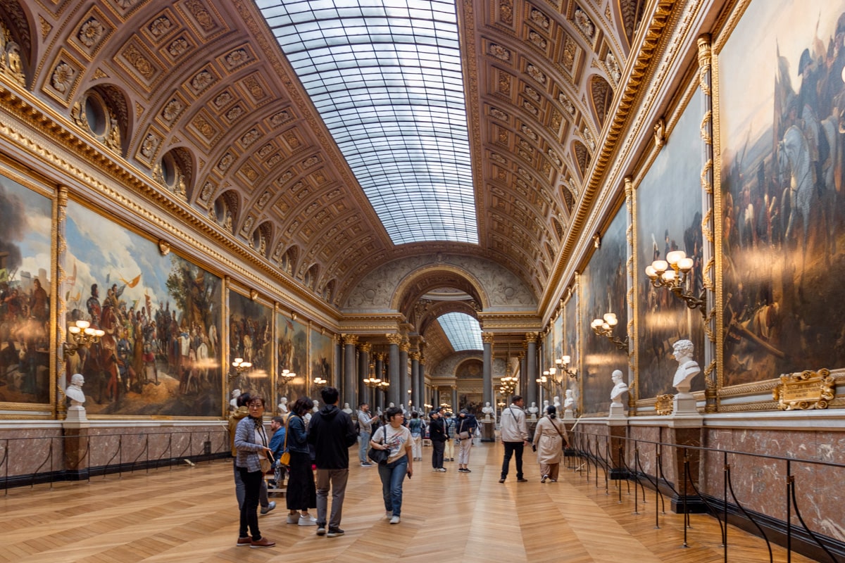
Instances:
[[[317,518],[308,508],[317,507],[317,487],[311,470],[311,453],[306,439],[303,415],[311,412],[314,403],[308,397],[297,398],[287,417],[287,451],[291,454],[287,478],[287,523],[315,526]]]

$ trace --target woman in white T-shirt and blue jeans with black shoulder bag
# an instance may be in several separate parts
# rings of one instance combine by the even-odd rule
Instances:
[[[384,517],[391,524],[398,524],[402,512],[402,483],[414,474],[411,430],[402,425],[405,417],[401,409],[390,407],[384,411],[387,424],[379,426],[373,434],[370,447],[390,450],[387,463],[379,463],[381,495],[384,498]]]

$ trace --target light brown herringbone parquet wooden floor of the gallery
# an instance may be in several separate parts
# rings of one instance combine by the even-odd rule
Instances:
[[[431,450],[423,451],[428,460]],[[273,549],[236,548],[237,501],[229,460],[196,467],[109,475],[90,483],[37,485],[0,491],[0,561],[192,563],[210,561],[568,561],[705,563],[724,560],[717,521],[693,516],[683,547],[682,517],[660,516],[653,493],[640,514],[624,485],[624,502],[603,479],[596,488],[581,473],[562,470],[558,483],[541,484],[526,452],[528,483],[499,484],[502,447],[472,448],[471,474],[432,473],[415,463],[405,482],[402,522],[384,520],[376,468],[354,465],[346,490],[341,538],[285,523],[284,499],[260,517]],[[511,462],[513,465],[513,462]],[[668,506],[668,505],[667,505]],[[774,547],[776,561],[786,552]],[[765,543],[729,531],[728,560],[768,561]],[[799,555],[793,561],[808,561]]]

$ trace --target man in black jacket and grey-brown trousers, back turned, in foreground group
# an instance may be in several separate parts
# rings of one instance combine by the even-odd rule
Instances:
[[[357,441],[352,417],[337,408],[340,394],[335,387],[320,392],[324,407],[311,416],[308,443],[314,447],[317,464],[317,535],[336,538],[343,535],[341,512],[349,479],[349,447]],[[331,489],[329,533],[326,534],[326,512]]]

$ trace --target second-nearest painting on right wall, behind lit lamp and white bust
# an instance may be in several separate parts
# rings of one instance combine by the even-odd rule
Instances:
[[[645,268],[665,260],[668,252],[682,250],[694,261],[687,285],[693,295],[703,288],[703,240],[701,232],[701,93],[695,95],[673,127],[668,142],[636,190],[637,246],[640,268],[637,280],[639,304],[639,398],[674,393],[673,373],[678,363],[672,345],[682,338],[695,346],[695,360],[704,365],[704,317],[690,310],[668,290],[655,288]],[[671,187],[672,189],[667,189]],[[692,390],[704,389],[704,375],[692,380]]]

